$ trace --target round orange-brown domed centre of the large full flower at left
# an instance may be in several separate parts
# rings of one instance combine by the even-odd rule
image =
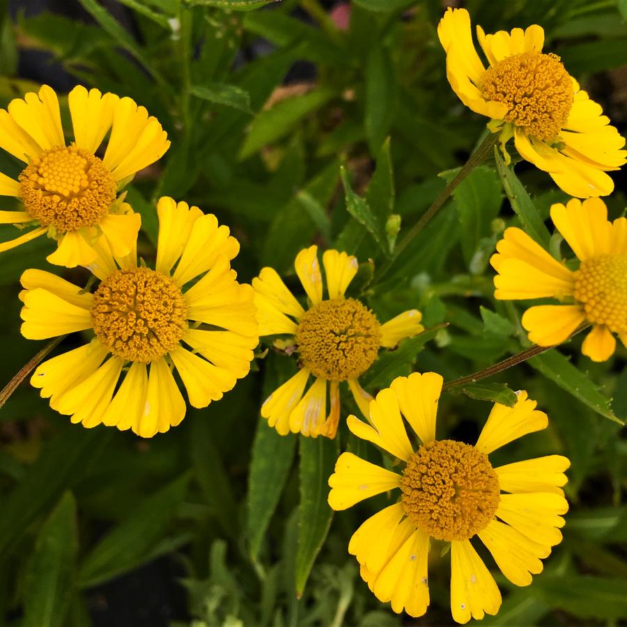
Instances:
[[[116,357],[148,363],[183,337],[187,306],[171,278],[149,268],[130,268],[100,283],[91,319],[98,339]]]

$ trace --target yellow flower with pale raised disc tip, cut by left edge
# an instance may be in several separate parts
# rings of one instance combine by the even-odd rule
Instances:
[[[74,130],[69,146],[59,99],[47,85],[13,100],[8,111],[0,109],[0,148],[27,164],[17,181],[0,173],[0,196],[24,204],[24,211],[0,211],[0,223],[36,227],[0,243],[0,252],[47,232],[59,242],[47,260],[71,268],[91,264],[101,238],[118,257],[130,252],[141,219],[116,203],[118,190],[160,159],[170,142],[157,119],[130,98],[77,86],[68,102]],[[97,157],[109,131],[104,155]]]

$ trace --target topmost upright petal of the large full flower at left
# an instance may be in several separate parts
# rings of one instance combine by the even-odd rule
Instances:
[[[178,257],[183,254],[194,222],[203,215],[203,212],[198,207],[190,208],[187,203],[177,204],[173,198],[163,196],[157,203],[157,215],[159,240],[155,269],[167,274]]]

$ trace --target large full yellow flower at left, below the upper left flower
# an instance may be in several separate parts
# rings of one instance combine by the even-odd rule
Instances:
[[[136,250],[116,257],[100,239],[90,267],[100,279],[93,294],[42,270],[22,275],[25,338],[88,329],[95,335],[42,363],[31,378],[53,409],[84,427],[102,423],[150,438],[185,417],[173,367],[194,407],[222,398],[249,372],[257,322],[253,290],[231,269],[238,241],[215,216],[187,203],[161,198],[157,212],[154,270],[138,266]]]

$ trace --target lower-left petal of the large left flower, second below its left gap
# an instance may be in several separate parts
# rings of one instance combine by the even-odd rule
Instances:
[[[84,427],[100,424],[102,415],[107,410],[116,383],[122,372],[123,360],[111,357],[98,370],[67,390],[59,398],[56,410],[70,415],[72,422],[82,422]]]

